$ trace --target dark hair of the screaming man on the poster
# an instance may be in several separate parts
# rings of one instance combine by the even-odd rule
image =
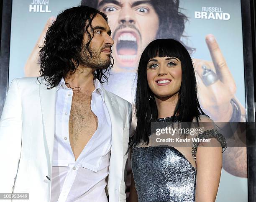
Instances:
[[[98,2],[99,0],[81,0],[81,5],[97,8]],[[182,10],[179,8],[179,0],[151,0],[151,5],[159,17],[159,28],[155,39],[174,38],[181,41],[182,37],[187,38],[183,32],[188,18],[179,11]],[[185,47],[190,54],[195,51],[192,47],[186,45]]]

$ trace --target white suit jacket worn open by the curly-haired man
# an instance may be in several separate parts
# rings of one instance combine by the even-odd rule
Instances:
[[[13,80],[0,120],[0,193],[29,193],[26,202],[49,202],[51,196],[51,182],[46,176],[51,178],[57,88],[47,89],[44,78],[38,80]],[[132,107],[103,91],[112,127],[109,201],[125,202]]]

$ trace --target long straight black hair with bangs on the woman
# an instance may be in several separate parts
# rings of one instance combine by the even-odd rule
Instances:
[[[156,39],[148,44],[141,54],[138,65],[137,88],[135,98],[135,113],[137,126],[131,141],[131,146],[149,142],[151,122],[158,118],[154,93],[147,82],[147,64],[154,57],[176,57],[181,61],[182,82],[179,89],[179,98],[174,110],[174,116],[178,115],[178,121],[192,122],[199,120],[203,113],[197,98],[197,83],[192,59],[187,49],[174,39]],[[152,98],[152,99],[150,99]],[[168,109],[166,109],[168,110]],[[174,119],[174,117],[173,117]]]

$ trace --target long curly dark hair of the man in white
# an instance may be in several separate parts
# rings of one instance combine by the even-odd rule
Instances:
[[[104,13],[88,6],[77,6],[61,12],[54,23],[49,27],[44,46],[40,48],[40,74],[49,82],[50,87],[56,87],[61,78],[66,78],[68,73],[74,73],[81,61],[80,53],[83,49],[84,33],[88,35],[85,48],[89,52],[89,45],[94,34],[92,20],[100,14],[107,22],[108,17]],[[111,59],[113,60],[112,56]],[[112,68],[113,61],[107,69],[97,69],[94,77],[101,83],[108,82],[107,75]]]

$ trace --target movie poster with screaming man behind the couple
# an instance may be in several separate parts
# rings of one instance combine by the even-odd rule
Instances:
[[[115,63],[106,89],[133,103],[141,51],[156,38],[175,38],[192,56],[204,112],[215,122],[246,121],[240,0],[13,0],[9,84],[39,76],[47,28],[61,10],[81,4],[109,19]],[[247,201],[245,147],[223,153],[216,201]]]

